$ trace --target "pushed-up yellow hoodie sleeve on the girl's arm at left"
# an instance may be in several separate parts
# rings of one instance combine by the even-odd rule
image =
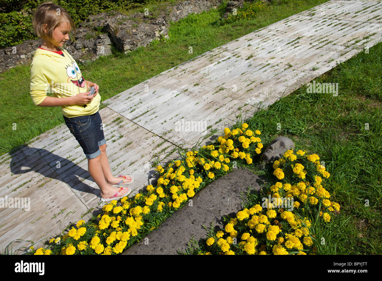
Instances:
[[[44,101],[49,90],[45,63],[41,60],[33,60],[31,63],[30,94],[35,106]]]

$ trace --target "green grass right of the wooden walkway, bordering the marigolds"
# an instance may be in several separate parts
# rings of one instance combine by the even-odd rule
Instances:
[[[325,245],[317,247],[321,254],[382,254],[381,54],[378,43],[369,54],[361,52],[316,79],[316,83],[338,83],[337,97],[309,94],[303,86],[246,120],[250,129],[265,133],[265,147],[286,136],[296,150],[316,153],[325,162],[330,200],[341,209],[329,225],[320,226],[312,219],[312,233],[325,238]],[[245,166],[267,175],[254,168],[256,164]],[[202,237],[195,238],[191,242],[197,245]]]

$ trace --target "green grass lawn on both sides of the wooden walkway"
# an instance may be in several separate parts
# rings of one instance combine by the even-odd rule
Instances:
[[[167,42],[127,55],[114,52],[80,68],[86,80],[100,85],[104,101],[207,50],[324,2],[327,1],[281,2],[254,19],[219,26],[224,4],[218,10],[172,23]],[[193,54],[188,53],[190,46]],[[288,136],[295,141],[296,149],[317,153],[325,161],[331,174],[330,199],[341,205],[340,216],[333,219],[329,233],[332,236],[325,238],[328,245],[336,245],[336,253],[382,253],[381,53],[379,43],[369,49],[369,54],[360,53],[317,78],[317,82],[338,83],[337,97],[308,94],[302,87],[248,121],[267,135],[262,138],[265,146],[277,136]],[[29,75],[29,66],[21,66],[0,76],[0,154],[63,123],[60,107],[33,105]],[[13,123],[17,130],[12,130]],[[277,130],[277,123],[281,130]],[[369,130],[365,130],[365,123]],[[337,227],[348,218],[349,223]],[[332,248],[322,251],[333,253]]]

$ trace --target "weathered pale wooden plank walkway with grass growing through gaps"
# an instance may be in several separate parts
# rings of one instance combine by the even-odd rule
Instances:
[[[375,0],[332,0],[107,99],[100,115],[113,174],[132,174],[138,193],[150,183],[151,164],[175,158],[176,146],[207,143],[214,136],[201,137],[230,125],[235,115],[266,108],[381,41],[381,8]],[[99,188],[65,123],[1,156],[0,174],[0,198],[30,202],[29,211],[27,205],[0,208],[0,250],[15,239],[51,237],[100,207]]]

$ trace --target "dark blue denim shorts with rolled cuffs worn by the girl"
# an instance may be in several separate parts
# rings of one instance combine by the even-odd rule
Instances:
[[[102,120],[97,111],[91,115],[64,117],[69,131],[82,147],[87,159],[96,158],[101,154],[99,147],[106,143]]]

